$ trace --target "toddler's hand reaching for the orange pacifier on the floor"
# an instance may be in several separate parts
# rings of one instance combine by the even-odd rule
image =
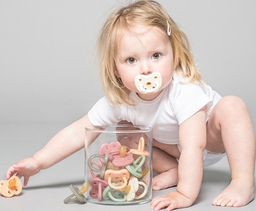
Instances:
[[[16,176],[20,179],[22,176],[24,177],[23,185],[26,186],[29,181],[29,177],[35,175],[39,171],[40,168],[34,158],[25,158],[7,170],[6,179],[9,180],[10,177],[16,173]]]

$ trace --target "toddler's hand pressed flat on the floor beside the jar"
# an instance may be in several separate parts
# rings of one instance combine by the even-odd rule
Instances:
[[[177,191],[168,193],[166,196],[153,198],[151,201],[151,209],[160,210],[167,206],[166,210],[178,208],[186,208],[193,204],[193,200],[185,197]]]

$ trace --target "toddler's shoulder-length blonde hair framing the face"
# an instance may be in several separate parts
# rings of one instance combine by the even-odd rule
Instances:
[[[183,77],[189,82],[201,81],[201,76],[194,65],[190,52],[188,38],[177,24],[170,18],[166,10],[155,1],[135,1],[128,6],[121,7],[112,13],[105,21],[98,39],[98,55],[101,80],[105,94],[116,104],[129,104],[129,90],[124,86],[116,73],[116,49],[121,32],[132,28],[134,24],[141,26],[156,26],[166,31],[169,23],[169,36],[173,50],[174,69],[181,69]],[[131,105],[131,104],[129,104]]]

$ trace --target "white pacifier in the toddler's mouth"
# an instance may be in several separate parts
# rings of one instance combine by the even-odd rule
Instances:
[[[149,75],[137,75],[135,77],[135,86],[141,93],[157,92],[162,85],[162,77],[159,72],[153,72]]]

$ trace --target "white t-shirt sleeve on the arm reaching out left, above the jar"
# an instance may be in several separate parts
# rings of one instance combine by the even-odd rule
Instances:
[[[121,107],[111,104],[106,97],[101,98],[88,112],[88,118],[92,125],[116,125],[121,115]]]

